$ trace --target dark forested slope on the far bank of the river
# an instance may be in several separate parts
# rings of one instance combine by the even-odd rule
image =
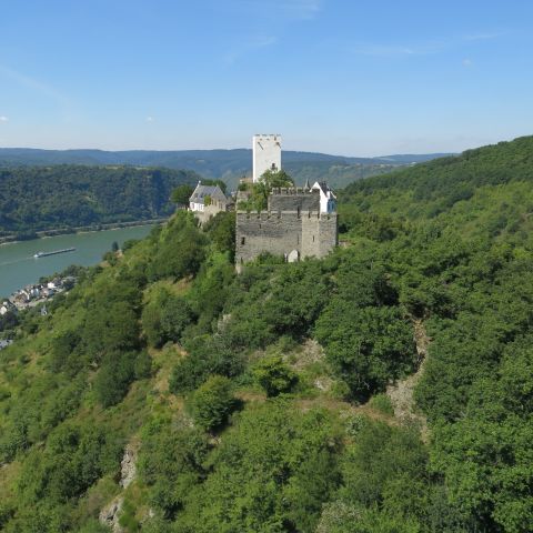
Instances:
[[[0,237],[168,217],[194,172],[132,167],[0,168]]]

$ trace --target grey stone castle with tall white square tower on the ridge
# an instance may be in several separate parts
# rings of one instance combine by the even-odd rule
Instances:
[[[257,169],[258,172],[281,169],[281,138],[254,135],[253,143],[255,182],[259,181]],[[255,147],[257,143],[261,145]],[[282,255],[288,262],[326,255],[338,244],[335,200],[333,191],[325,183],[316,182],[310,187],[308,182],[303,189],[273,189],[264,212],[237,210],[238,272],[245,262],[263,252]]]

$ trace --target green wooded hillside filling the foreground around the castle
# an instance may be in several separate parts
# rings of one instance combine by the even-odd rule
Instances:
[[[0,352],[0,529],[530,532],[532,185],[523,138],[349,187],[320,261],[108,253]]]

